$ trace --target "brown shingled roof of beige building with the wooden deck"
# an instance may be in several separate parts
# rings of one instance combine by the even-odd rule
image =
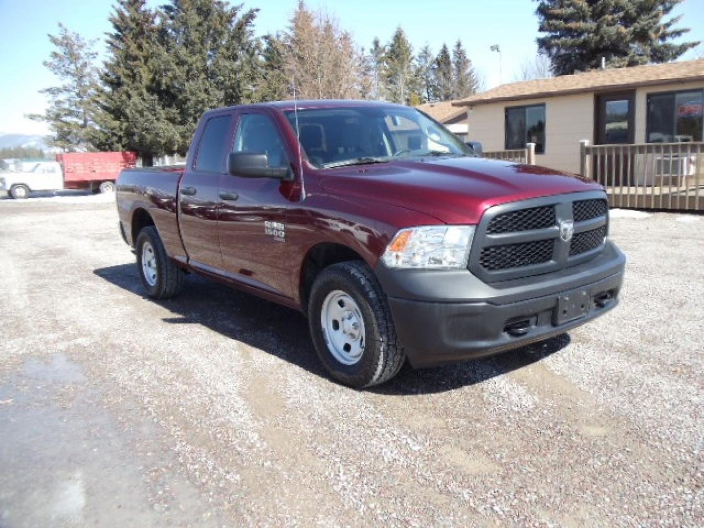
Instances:
[[[587,73],[575,73],[574,75],[560,75],[548,79],[501,84],[501,86],[481,94],[472,95],[460,101],[453,101],[453,105],[457,108],[458,106],[474,106],[496,101],[534,99],[553,95],[596,92],[612,88],[625,89],[648,84],[693,80],[704,80],[704,58],[696,61],[597,70]]]

